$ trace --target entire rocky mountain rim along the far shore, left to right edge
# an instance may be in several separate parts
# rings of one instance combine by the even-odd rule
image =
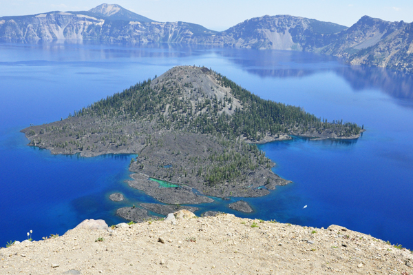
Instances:
[[[362,17],[350,28],[290,15],[246,20],[216,32],[187,22],[156,22],[118,5],[85,12],[47,12],[0,18],[0,41],[56,40],[105,43],[190,43],[260,50],[302,50],[332,54],[354,65],[411,72],[412,23]]]

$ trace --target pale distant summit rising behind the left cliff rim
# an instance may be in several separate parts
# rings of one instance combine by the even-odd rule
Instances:
[[[88,10],[88,12],[91,12],[92,14],[98,14],[112,20],[154,22],[147,17],[143,17],[140,14],[131,12],[130,10],[127,10],[117,4],[103,3],[96,8]]]

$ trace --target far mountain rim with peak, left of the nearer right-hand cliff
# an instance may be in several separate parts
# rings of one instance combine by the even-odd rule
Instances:
[[[253,18],[225,32],[186,22],[159,23],[118,5],[103,4],[87,12],[48,12],[3,17],[0,41],[35,43],[57,39],[120,43],[204,43],[238,48],[313,50],[329,34],[346,29],[335,23],[279,15]]]

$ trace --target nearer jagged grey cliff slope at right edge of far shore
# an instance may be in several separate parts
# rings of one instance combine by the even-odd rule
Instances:
[[[317,51],[346,59],[354,65],[373,65],[413,72],[412,23],[362,17],[330,36],[331,43]]]

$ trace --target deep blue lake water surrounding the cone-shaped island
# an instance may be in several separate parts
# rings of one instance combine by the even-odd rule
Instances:
[[[413,248],[413,77],[334,57],[180,45],[0,44],[0,246],[63,234],[85,218],[109,225],[116,208],[156,202],[124,182],[134,155],[85,159],[28,147],[19,130],[70,112],[174,65],[205,65],[264,99],[329,120],[363,124],[352,141],[295,138],[260,145],[293,181],[236,213],[230,201],[197,205],[248,218],[351,230]],[[112,192],[127,198],[109,201]],[[304,205],[308,205],[303,209]]]

